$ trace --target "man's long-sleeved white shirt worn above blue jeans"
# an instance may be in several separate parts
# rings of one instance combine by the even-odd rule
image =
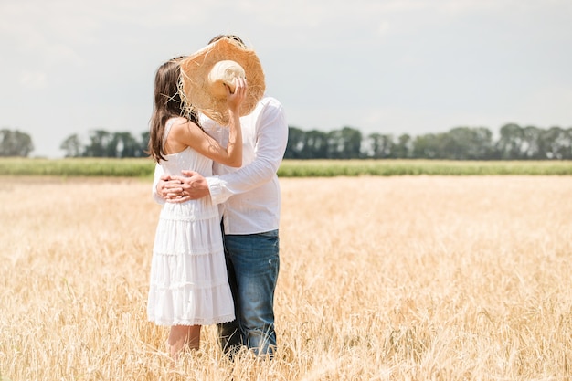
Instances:
[[[203,129],[223,146],[228,144],[228,127],[221,127],[204,116]],[[281,191],[276,172],[288,142],[288,123],[279,101],[264,97],[256,109],[240,118],[242,128],[242,167],[214,163],[207,177],[211,200],[219,205],[225,234],[255,234],[279,228]],[[189,168],[192,169],[192,168]],[[153,194],[163,175],[155,166]]]

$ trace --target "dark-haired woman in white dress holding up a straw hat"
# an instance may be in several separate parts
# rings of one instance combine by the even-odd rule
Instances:
[[[199,127],[196,111],[181,101],[182,59],[165,62],[155,74],[151,156],[170,175],[189,168],[211,175],[213,160],[240,166],[239,109],[247,93],[246,79],[235,78],[225,85],[229,116],[225,148]],[[220,218],[209,199],[164,204],[155,233],[147,312],[150,321],[171,327],[167,344],[174,359],[185,348],[199,348],[201,325],[235,319]]]

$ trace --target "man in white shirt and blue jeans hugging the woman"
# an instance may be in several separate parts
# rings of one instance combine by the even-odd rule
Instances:
[[[242,40],[236,36],[214,37]],[[228,280],[236,320],[218,324],[220,344],[232,354],[247,346],[257,355],[273,355],[274,291],[280,268],[279,223],[281,191],[276,175],[288,140],[288,124],[281,103],[264,96],[255,110],[240,118],[243,166],[214,164],[212,177],[192,171],[163,176],[155,171],[154,197],[158,202],[210,197],[219,205]],[[228,129],[203,117],[205,131],[226,146]]]

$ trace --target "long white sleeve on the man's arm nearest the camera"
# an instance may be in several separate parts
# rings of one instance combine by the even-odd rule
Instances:
[[[288,123],[279,101],[270,99],[263,107],[257,120],[254,160],[236,172],[207,177],[214,204],[263,185],[278,172],[288,142]]]

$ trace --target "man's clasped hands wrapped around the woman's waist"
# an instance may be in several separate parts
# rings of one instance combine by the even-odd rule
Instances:
[[[171,203],[183,203],[209,195],[207,179],[195,171],[181,176],[164,175],[157,183],[157,194]]]

